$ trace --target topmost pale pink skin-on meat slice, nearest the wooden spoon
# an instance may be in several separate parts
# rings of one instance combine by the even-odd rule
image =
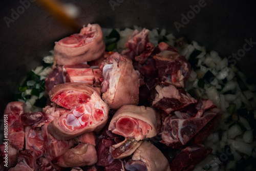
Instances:
[[[76,65],[96,60],[104,55],[102,30],[97,24],[88,24],[79,34],[55,42],[54,61],[57,65]]]

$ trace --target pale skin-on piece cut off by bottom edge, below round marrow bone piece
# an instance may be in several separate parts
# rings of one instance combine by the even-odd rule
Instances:
[[[125,168],[135,170],[135,165],[144,165],[147,171],[169,171],[169,163],[162,152],[150,142],[144,141],[134,152],[132,160],[125,164]]]

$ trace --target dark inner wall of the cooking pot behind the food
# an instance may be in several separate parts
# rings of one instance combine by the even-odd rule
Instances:
[[[248,78],[256,74],[256,15],[252,1],[63,1],[76,5],[80,23],[103,28],[134,25],[165,28],[176,37],[195,40],[208,50],[229,57]],[[54,41],[73,33],[36,0],[1,2],[0,113],[12,100],[18,83],[54,47]],[[82,26],[81,26],[82,27]],[[232,56],[233,54],[233,56]],[[237,56],[236,56],[237,54]]]

